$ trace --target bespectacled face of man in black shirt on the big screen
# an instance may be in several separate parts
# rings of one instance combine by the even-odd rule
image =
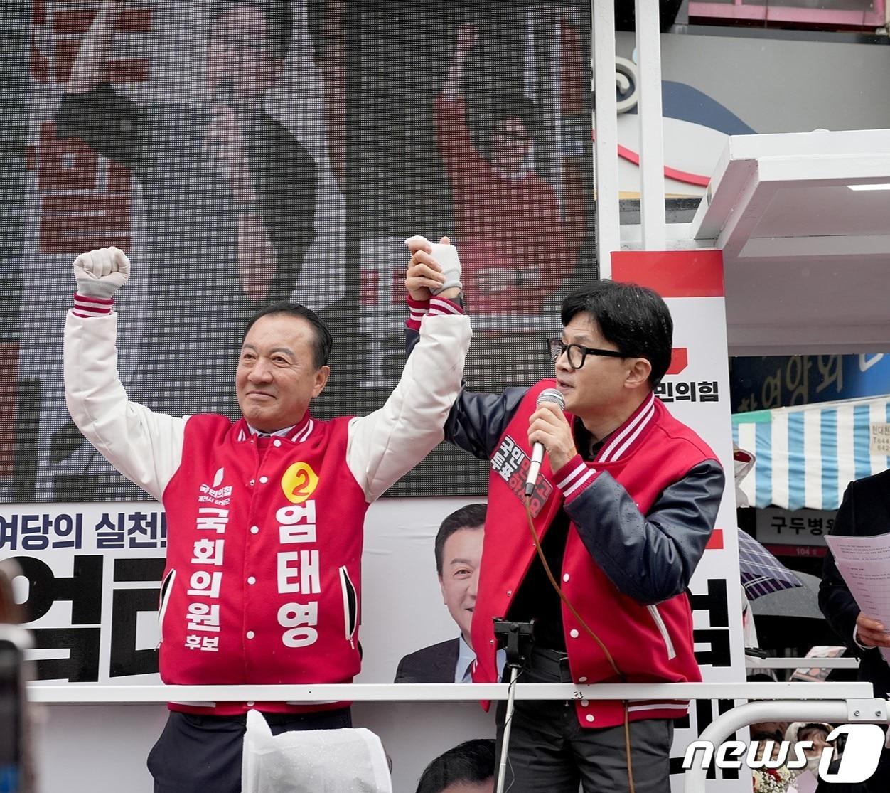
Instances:
[[[218,17],[210,26],[207,46],[207,88],[216,96],[220,83],[231,83],[239,105],[255,108],[275,85],[284,59],[273,52],[269,26],[259,6],[245,3]]]

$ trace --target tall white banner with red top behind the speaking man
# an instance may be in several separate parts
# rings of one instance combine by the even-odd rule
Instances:
[[[723,256],[717,250],[623,251],[612,254],[612,278],[650,287],[667,303],[674,320],[671,366],[656,394],[667,409],[714,449],[726,487],[716,529],[692,576],[696,658],[708,682],[745,680],[741,632],[741,583],[732,487],[729,368],[726,356]],[[675,732],[672,771],[680,770],[686,746],[732,700],[699,701],[688,724]],[[742,736],[744,737],[744,736]],[[747,769],[717,769],[708,783],[717,790],[750,790]],[[682,790],[680,778],[672,789]]]

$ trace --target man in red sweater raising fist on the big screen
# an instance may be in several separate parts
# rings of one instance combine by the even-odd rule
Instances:
[[[527,166],[537,109],[524,93],[498,97],[491,160],[473,147],[460,95],[465,61],[479,40],[457,29],[445,87],[435,103],[436,145],[454,199],[455,237],[467,304],[477,314],[534,314],[574,266],[553,188]]]

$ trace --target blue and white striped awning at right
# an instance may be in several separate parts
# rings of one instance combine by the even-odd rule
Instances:
[[[756,457],[740,489],[751,506],[837,509],[848,482],[890,468],[870,453],[872,427],[887,424],[890,395],[737,413],[732,440]]]

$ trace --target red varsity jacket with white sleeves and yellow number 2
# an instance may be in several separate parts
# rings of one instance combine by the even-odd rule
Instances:
[[[350,682],[360,668],[364,515],[441,441],[460,388],[469,320],[433,299],[428,312],[415,312],[420,344],[381,409],[327,422],[307,413],[287,436],[263,439],[261,451],[244,419],[171,417],[128,401],[117,378],[117,315],[110,303],[90,303],[78,298],[66,320],[66,398],[93,446],[164,503],[162,679]],[[170,708],[231,715],[252,705]]]

